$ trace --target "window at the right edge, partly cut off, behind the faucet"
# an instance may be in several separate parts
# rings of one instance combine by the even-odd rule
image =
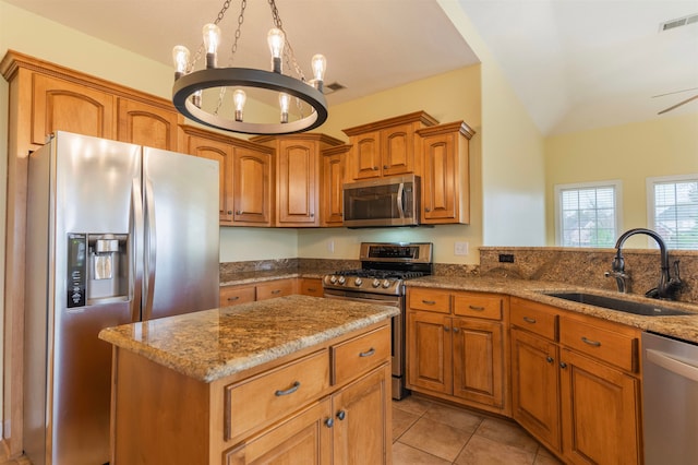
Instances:
[[[649,227],[670,249],[698,249],[698,174],[647,179]]]

